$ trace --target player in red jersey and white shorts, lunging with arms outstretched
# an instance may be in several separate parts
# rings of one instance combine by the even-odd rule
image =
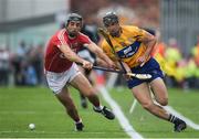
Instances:
[[[69,14],[65,29],[57,31],[50,39],[44,63],[48,85],[63,104],[69,116],[75,121],[77,131],[83,130],[84,125],[70,96],[67,85],[83,93],[93,104],[94,111],[104,115],[107,119],[115,118],[115,115],[109,109],[101,105],[95,89],[78,71],[75,63],[82,64],[86,70],[91,70],[93,64],[81,58],[76,53],[82,46],[85,46],[102,58],[107,67],[113,68],[115,65],[88,36],[80,32],[81,28],[82,17],[76,13]]]

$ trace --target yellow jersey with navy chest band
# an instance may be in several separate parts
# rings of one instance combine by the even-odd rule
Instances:
[[[122,34],[119,38],[113,38],[108,34],[114,46],[114,51],[118,57],[125,62],[130,68],[139,65],[137,58],[145,54],[147,46],[140,42],[146,31],[133,25],[122,25]],[[113,61],[116,56],[106,40],[102,42],[104,53]],[[146,60],[146,62],[149,57]]]

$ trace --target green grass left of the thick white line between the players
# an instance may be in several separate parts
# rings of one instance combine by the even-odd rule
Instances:
[[[0,137],[2,138],[114,138],[127,137],[117,120],[80,107],[77,92],[73,98],[85,125],[83,132],[74,131],[74,122],[48,88],[0,88]],[[28,128],[35,124],[35,130]],[[111,132],[111,133],[108,133]]]

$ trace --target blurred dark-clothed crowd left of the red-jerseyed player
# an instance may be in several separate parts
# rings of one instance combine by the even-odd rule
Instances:
[[[17,52],[0,50],[0,85],[35,86],[43,83],[43,47],[20,42]]]

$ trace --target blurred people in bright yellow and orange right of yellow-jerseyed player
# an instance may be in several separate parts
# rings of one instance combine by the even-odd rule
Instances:
[[[166,83],[185,89],[199,88],[199,36],[188,55],[179,47],[177,40],[171,38],[168,44],[158,42],[154,50],[154,57],[166,74]]]

